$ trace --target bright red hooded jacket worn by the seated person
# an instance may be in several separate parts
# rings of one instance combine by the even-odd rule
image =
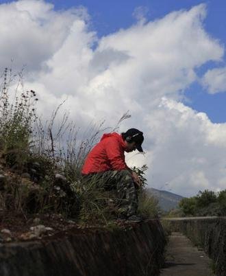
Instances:
[[[82,174],[127,170],[125,163],[125,141],[118,133],[104,134],[101,141],[92,148],[81,170]]]

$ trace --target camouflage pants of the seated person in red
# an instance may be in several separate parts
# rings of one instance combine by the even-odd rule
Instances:
[[[124,216],[136,214],[138,193],[128,170],[99,172],[91,177],[97,178],[99,185],[103,185],[104,189],[116,191],[119,214]]]

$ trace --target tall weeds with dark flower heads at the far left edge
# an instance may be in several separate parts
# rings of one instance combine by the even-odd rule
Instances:
[[[8,165],[22,168],[29,153],[29,137],[36,119],[35,103],[38,100],[34,91],[17,95],[10,103],[9,87],[11,73],[5,68],[0,95],[0,147]],[[11,71],[10,71],[11,72]]]

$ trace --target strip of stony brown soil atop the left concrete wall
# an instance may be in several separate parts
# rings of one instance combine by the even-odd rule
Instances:
[[[36,223],[37,218],[39,222]],[[45,225],[51,227],[50,231],[36,235],[30,238],[32,233],[30,227],[37,225]],[[55,238],[63,238],[66,235],[84,234],[105,231],[109,227],[121,227],[121,229],[136,225],[133,222],[112,221],[110,225],[86,225],[75,220],[67,220],[59,214],[42,214],[42,215],[23,215],[12,212],[4,213],[0,211],[0,244],[9,242],[24,242],[27,240],[50,240]],[[10,230],[10,235],[1,233],[1,230]],[[8,240],[10,238],[10,240]]]

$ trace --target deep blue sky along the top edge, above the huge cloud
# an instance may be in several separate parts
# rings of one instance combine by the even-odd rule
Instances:
[[[7,1],[1,1],[7,2]],[[56,9],[67,9],[72,6],[84,5],[92,16],[95,30],[100,36],[115,32],[122,27],[129,27],[134,23],[134,10],[138,7],[147,8],[147,19],[158,19],[173,10],[189,9],[194,5],[206,3],[208,17],[205,19],[206,30],[212,35],[225,41],[225,12],[224,0],[49,0]]]

